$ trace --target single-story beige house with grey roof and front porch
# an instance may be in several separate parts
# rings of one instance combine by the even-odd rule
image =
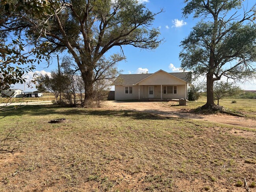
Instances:
[[[121,74],[115,80],[115,100],[187,99],[191,72]]]

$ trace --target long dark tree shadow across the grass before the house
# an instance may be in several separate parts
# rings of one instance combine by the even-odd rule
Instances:
[[[108,116],[108,117],[130,117],[133,119],[150,119],[150,120],[162,120],[170,119],[171,117],[159,116],[158,114],[152,114],[150,111],[140,112],[132,110],[105,110],[105,109],[86,109],[75,107],[60,107],[58,105],[26,105],[22,108],[18,108],[8,116],[47,116],[47,115],[61,115],[68,118],[69,115],[94,115],[94,116]],[[1,112],[0,117],[5,113]]]

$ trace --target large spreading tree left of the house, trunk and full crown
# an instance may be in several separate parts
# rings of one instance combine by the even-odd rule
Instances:
[[[26,37],[49,54],[67,50],[72,55],[85,85],[84,104],[93,99],[95,81],[109,78],[108,66],[124,59],[124,45],[154,49],[161,42],[160,32],[152,27],[158,13],[137,0],[59,0],[51,8],[55,13],[45,13],[48,18],[22,12],[22,21],[9,28],[23,26]],[[114,47],[121,53],[105,58]]]

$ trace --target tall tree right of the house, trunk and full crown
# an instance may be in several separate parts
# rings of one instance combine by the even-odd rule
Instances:
[[[255,5],[243,7],[241,0],[185,0],[184,17],[202,18],[181,42],[181,67],[195,76],[206,76],[207,102],[212,108],[213,83],[222,77],[253,78],[256,61]]]

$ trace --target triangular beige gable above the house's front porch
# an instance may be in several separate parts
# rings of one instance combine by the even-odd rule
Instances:
[[[160,71],[139,82],[139,85],[185,85],[186,82]]]

